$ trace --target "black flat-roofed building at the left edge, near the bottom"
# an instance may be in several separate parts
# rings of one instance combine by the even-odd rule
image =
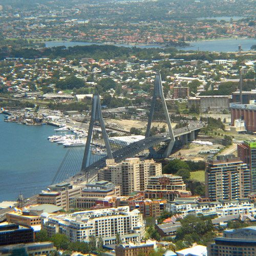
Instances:
[[[34,242],[33,228],[6,222],[0,224],[0,246],[32,242]]]

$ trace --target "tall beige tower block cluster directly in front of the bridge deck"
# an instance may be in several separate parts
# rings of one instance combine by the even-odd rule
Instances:
[[[120,163],[106,160],[106,167],[100,170],[98,179],[110,181],[121,187],[121,195],[127,196],[134,191],[143,191],[148,177],[162,173],[161,163],[154,160],[140,161],[139,158],[127,158]]]

